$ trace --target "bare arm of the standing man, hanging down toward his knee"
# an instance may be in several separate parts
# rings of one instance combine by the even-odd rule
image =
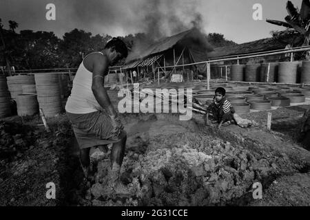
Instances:
[[[92,92],[101,107],[103,107],[110,116],[115,117],[116,111],[111,104],[110,98],[107,95],[107,91],[103,84],[107,68],[108,66],[105,60],[102,60],[100,57],[95,58],[92,71]]]

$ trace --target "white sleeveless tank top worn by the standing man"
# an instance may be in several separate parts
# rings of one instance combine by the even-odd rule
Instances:
[[[71,95],[65,104],[65,111],[69,113],[85,114],[103,110],[92,92],[92,72],[85,68],[83,61],[75,74]]]

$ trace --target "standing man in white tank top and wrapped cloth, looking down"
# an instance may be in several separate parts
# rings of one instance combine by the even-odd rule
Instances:
[[[108,67],[127,57],[127,47],[113,38],[101,52],[88,54],[74,77],[65,111],[80,147],[80,160],[85,177],[90,178],[90,148],[99,146],[111,151],[112,179],[118,179],[125,153],[126,134],[104,87]]]

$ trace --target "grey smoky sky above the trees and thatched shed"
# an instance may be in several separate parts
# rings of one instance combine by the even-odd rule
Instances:
[[[0,18],[19,23],[19,30],[53,31],[59,37],[74,28],[92,34],[123,36],[151,32],[169,36],[192,28],[197,21],[205,32],[223,33],[243,43],[267,38],[283,30],[265,19],[284,21],[286,0],[0,0]],[[45,19],[45,6],[56,5],[56,21]],[[252,6],[262,4],[263,21],[252,19]],[[300,8],[301,0],[293,0]]]

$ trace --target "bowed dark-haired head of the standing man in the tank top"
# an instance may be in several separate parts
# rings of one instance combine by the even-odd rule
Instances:
[[[107,45],[105,45],[105,53],[110,62],[110,65],[116,64],[122,58],[126,58],[128,50],[125,43],[116,37],[112,38]]]

